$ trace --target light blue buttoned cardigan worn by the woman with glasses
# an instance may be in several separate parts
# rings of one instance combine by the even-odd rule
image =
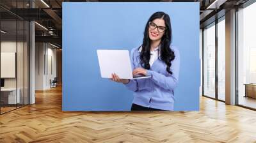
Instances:
[[[134,91],[132,103],[154,109],[173,110],[174,89],[179,81],[180,54],[176,47],[171,46],[171,49],[175,54],[170,67],[172,75],[166,71],[166,64],[159,57],[150,70],[147,70],[147,75],[151,78],[129,80],[124,84],[129,90]],[[141,67],[139,48],[131,50],[131,65],[132,70]]]

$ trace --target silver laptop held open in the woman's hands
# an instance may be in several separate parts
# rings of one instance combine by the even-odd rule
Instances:
[[[97,50],[102,78],[111,78],[116,73],[120,79],[147,79],[150,76],[132,76],[129,50]]]

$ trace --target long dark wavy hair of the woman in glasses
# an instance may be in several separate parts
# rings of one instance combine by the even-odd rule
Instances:
[[[172,74],[172,71],[170,71],[170,67],[172,66],[171,61],[175,58],[174,52],[172,49],[170,49],[170,44],[172,42],[172,27],[170,22],[170,17],[168,14],[158,11],[154,13],[149,19],[145,27],[144,31],[144,38],[142,43],[142,49],[140,52],[140,63],[141,66],[147,70],[150,69],[150,43],[151,40],[148,35],[148,23],[152,22],[154,19],[163,19],[165,22],[165,26],[167,27],[166,31],[164,31],[163,37],[161,38],[160,42],[160,57],[161,60],[164,61],[164,63],[167,65],[166,71],[170,74]]]

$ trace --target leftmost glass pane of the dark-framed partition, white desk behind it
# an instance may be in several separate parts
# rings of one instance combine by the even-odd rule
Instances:
[[[1,113],[17,108],[17,21],[1,21]],[[19,94],[18,94],[19,95]]]

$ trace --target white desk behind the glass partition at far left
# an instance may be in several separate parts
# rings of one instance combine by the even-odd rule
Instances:
[[[1,102],[4,104],[16,104],[20,103],[20,89],[17,89],[18,94],[16,98],[16,88],[4,88],[1,89]]]

